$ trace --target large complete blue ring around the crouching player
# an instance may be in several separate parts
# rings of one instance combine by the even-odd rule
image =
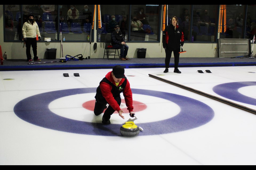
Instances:
[[[72,120],[54,114],[48,107],[52,101],[60,97],[95,92],[96,88],[76,88],[30,96],[15,105],[14,113],[24,121],[48,129],[87,135],[120,136],[121,124],[103,125],[102,123]],[[197,128],[211,121],[214,117],[213,109],[201,101],[189,97],[143,89],[132,89],[132,92],[133,94],[170,100],[179,105],[181,109],[179,114],[169,119],[136,124],[144,129],[143,133],[139,134],[141,136],[167,134]],[[69,101],[66,104],[69,104]],[[163,112],[163,110],[159,108],[159,112]],[[168,114],[168,112],[171,112],[171,108],[161,114]],[[159,113],[155,113],[156,117],[157,114]]]

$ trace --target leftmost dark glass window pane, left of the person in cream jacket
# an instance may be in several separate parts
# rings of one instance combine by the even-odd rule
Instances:
[[[4,5],[5,41],[22,40],[21,10],[19,5]]]

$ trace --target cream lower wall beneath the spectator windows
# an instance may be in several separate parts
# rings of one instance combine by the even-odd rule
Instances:
[[[8,59],[26,59],[26,46],[22,42],[4,42],[3,41],[3,5],[0,5],[0,45],[2,47],[2,52],[7,52]],[[94,35],[94,40],[97,39],[96,32]],[[161,41],[162,42],[162,36]],[[94,42],[91,43],[91,58],[103,58],[104,54],[104,43],[97,43],[97,50],[93,50]],[[165,51],[162,48],[162,43],[127,43],[129,46],[129,51],[127,57],[137,58],[137,48],[146,48],[146,58],[156,58],[165,57]],[[215,47],[216,43],[185,43],[183,50],[186,53],[182,53],[180,57],[218,57]],[[40,42],[37,43],[37,53],[39,58],[44,58],[46,53],[46,48],[57,48],[57,57],[61,57],[61,43],[60,42]],[[63,42],[63,55],[76,56],[82,54],[83,57],[89,56],[90,43],[69,43]],[[32,48],[31,48],[31,54]]]

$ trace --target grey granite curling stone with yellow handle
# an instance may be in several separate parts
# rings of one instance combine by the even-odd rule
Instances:
[[[120,128],[120,133],[125,137],[134,137],[139,134],[139,128],[134,122],[125,122]]]

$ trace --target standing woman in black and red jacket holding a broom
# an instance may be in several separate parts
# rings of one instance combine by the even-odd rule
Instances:
[[[165,28],[163,32],[163,48],[165,49],[165,71],[169,72],[171,53],[174,55],[174,73],[181,73],[178,69],[179,52],[184,44],[184,34],[182,28],[178,25],[178,19],[173,16],[171,24]]]

